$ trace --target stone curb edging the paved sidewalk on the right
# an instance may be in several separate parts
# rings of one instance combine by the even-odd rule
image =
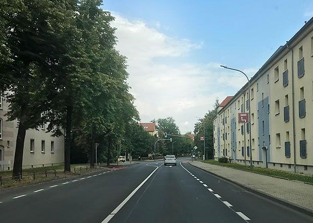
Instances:
[[[271,201],[274,201],[274,202],[279,203],[279,204],[281,204],[281,205],[284,205],[284,206],[286,206],[286,207],[288,207],[288,208],[292,208],[292,209],[294,209],[294,210],[296,210],[296,211],[298,211],[298,212],[301,212],[301,213],[303,213],[303,214],[306,214],[306,215],[309,215],[309,216],[313,217],[313,211],[310,210],[310,209],[307,209],[307,208],[305,208],[305,207],[296,205],[296,204],[291,203],[291,202],[289,202],[289,201],[286,201],[286,200],[284,200],[284,199],[280,199],[280,198],[277,198],[277,197],[273,197],[273,196],[270,195],[270,194],[267,194],[267,193],[264,193],[264,192],[262,192],[262,191],[253,189],[253,188],[248,187],[248,186],[246,186],[246,185],[244,185],[244,184],[238,183],[238,182],[236,182],[236,181],[234,181],[234,180],[231,180],[231,179],[229,179],[229,178],[226,178],[226,177],[224,177],[224,176],[221,176],[221,175],[219,175],[219,174],[217,174],[217,173],[211,172],[211,171],[206,170],[206,169],[203,169],[203,168],[201,168],[201,167],[197,167],[197,166],[195,166],[195,165],[192,165],[191,163],[189,163],[189,164],[190,164],[192,167],[196,167],[196,168],[201,169],[201,170],[203,170],[203,171],[205,171],[205,172],[208,172],[208,173],[210,173],[210,174],[212,174],[212,175],[214,175],[214,176],[217,176],[217,177],[219,177],[219,178],[221,178],[221,179],[223,179],[223,180],[226,180],[226,181],[229,181],[229,182],[231,182],[231,183],[234,183],[234,184],[236,184],[236,185],[238,185],[238,186],[240,186],[240,187],[242,187],[242,188],[244,188],[244,189],[246,189],[246,190],[248,190],[248,191],[250,191],[250,192],[252,192],[252,193],[254,193],[254,194],[260,195],[260,196],[262,196],[262,197],[264,197],[264,198],[267,198],[267,199],[269,199],[269,200],[271,200]]]

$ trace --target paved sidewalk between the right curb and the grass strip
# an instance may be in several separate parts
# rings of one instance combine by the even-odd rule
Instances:
[[[287,201],[313,212],[313,185],[311,184],[280,179],[230,167],[205,164],[199,161],[189,163],[253,190],[260,191],[271,197]]]

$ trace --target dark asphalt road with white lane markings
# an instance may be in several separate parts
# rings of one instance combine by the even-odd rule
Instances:
[[[190,166],[142,162],[0,192],[3,223],[312,223],[313,218]]]

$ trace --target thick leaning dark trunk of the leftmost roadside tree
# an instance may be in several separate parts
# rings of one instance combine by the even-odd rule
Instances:
[[[18,126],[17,137],[16,137],[12,177],[18,177],[19,174],[22,175],[25,135],[26,135],[26,126],[23,123],[23,121],[20,121],[19,126]]]

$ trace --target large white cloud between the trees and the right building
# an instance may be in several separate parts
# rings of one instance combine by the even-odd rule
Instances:
[[[212,109],[216,98],[222,101],[229,88],[239,90],[246,83],[243,76],[223,70],[217,62],[180,62],[201,43],[175,39],[144,21],[113,15],[117,49],[127,57],[128,83],[142,121],[173,116],[182,133],[192,131],[195,116]]]

